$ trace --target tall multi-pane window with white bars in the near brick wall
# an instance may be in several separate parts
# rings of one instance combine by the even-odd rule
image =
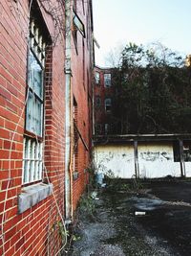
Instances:
[[[23,152],[23,184],[42,179],[44,125],[44,68],[46,41],[34,19],[30,22],[28,93]]]

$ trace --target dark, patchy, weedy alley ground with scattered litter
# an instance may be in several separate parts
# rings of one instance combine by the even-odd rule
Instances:
[[[190,255],[191,181],[119,181],[93,198],[84,200],[91,211],[78,216],[67,255]]]

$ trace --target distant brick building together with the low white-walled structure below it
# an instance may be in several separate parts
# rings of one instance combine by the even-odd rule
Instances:
[[[96,170],[121,178],[190,177],[191,134],[120,133],[112,73],[112,68],[95,67]]]

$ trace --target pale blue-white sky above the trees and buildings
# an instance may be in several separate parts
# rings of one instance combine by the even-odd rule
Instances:
[[[191,0],[93,0],[96,65],[113,64],[129,42],[160,42],[191,54]]]

